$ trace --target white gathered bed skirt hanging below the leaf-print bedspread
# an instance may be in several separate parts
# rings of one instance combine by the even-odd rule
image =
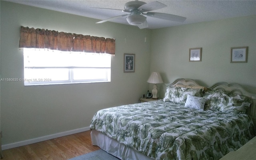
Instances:
[[[99,146],[102,150],[121,160],[153,160],[97,130],[91,131],[91,139],[92,145]]]

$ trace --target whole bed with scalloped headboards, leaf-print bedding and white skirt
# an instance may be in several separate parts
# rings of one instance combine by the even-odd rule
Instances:
[[[96,112],[92,144],[122,160],[218,160],[255,136],[256,96],[238,84],[166,84],[162,100]]]

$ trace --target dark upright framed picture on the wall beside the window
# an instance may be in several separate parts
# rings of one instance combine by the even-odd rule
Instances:
[[[135,54],[124,54],[124,72],[135,72]]]

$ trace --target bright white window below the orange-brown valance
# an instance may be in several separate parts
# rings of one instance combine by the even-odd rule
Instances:
[[[24,48],[24,85],[110,82],[111,55]]]

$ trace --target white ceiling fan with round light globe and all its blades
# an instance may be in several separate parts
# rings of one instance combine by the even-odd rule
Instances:
[[[165,4],[162,4],[158,1],[146,3],[142,1],[130,1],[124,4],[124,10],[121,10],[122,12],[129,12],[130,14],[122,14],[120,16],[115,16],[112,18],[108,18],[106,20],[102,20],[97,23],[103,23],[110,20],[113,20],[118,17],[126,17],[127,22],[130,25],[138,26],[140,29],[147,28],[148,24],[146,21],[145,16],[150,16],[153,18],[160,18],[163,20],[170,20],[170,21],[176,21],[176,22],[184,22],[186,20],[186,17],[182,16],[176,16],[173,14],[166,14],[166,13],[158,13],[158,12],[149,12],[152,10],[158,10],[160,8],[166,7]],[[96,8],[96,7],[92,7]],[[118,9],[112,9],[112,8],[100,8],[100,9],[110,9],[110,10],[118,10]],[[146,13],[144,13],[146,12]],[[144,16],[145,15],[145,16]]]

